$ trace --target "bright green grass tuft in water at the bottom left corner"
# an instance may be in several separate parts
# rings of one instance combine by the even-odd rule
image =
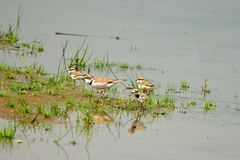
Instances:
[[[0,129],[0,141],[7,140],[12,141],[16,134],[16,127],[7,125],[3,129]]]

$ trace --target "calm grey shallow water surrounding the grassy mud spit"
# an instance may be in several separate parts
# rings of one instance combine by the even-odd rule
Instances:
[[[177,109],[145,124],[145,131],[132,136],[127,133],[129,126],[121,127],[117,140],[106,126],[97,127],[99,131],[88,146],[89,155],[85,138],[80,136],[72,146],[68,143],[72,135],[68,134],[61,144],[69,159],[239,159],[240,114],[235,110],[239,99],[234,103],[234,95],[240,96],[239,1],[2,1],[2,27],[15,23],[19,5],[23,8],[22,39],[41,39],[46,53],[20,60],[0,54],[2,62],[25,65],[37,61],[49,72],[56,72],[61,43],[68,39],[74,51],[84,37],[58,36],[55,32],[86,34],[92,59],[108,53],[114,62],[141,63],[144,70],[127,73],[152,80],[159,93],[165,92],[168,83],[179,84],[184,79],[192,91],[199,92],[202,81],[208,79],[212,90],[209,98],[217,102],[217,110],[208,114],[203,113],[200,103],[187,114]],[[116,36],[120,40],[110,38]],[[125,74],[118,74],[125,78]],[[128,119],[125,116],[122,121]],[[1,126],[4,123],[1,119]],[[111,127],[115,130],[114,125]],[[53,130],[64,131],[64,125]],[[62,149],[58,153],[53,143],[56,137],[43,133],[41,142],[39,132],[27,132],[29,139],[36,141],[14,143],[11,152],[0,151],[0,159],[67,159]]]

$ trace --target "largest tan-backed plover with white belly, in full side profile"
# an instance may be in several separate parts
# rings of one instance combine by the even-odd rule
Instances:
[[[93,77],[92,75],[88,74],[85,76],[84,81],[91,85],[93,88],[97,90],[101,90],[100,96],[103,96],[105,92],[111,88],[113,85],[117,83],[122,83],[126,80],[124,79],[111,79],[108,77]]]

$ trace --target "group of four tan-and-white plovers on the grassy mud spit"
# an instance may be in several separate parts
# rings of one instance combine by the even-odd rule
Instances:
[[[100,91],[101,97],[106,97],[106,91],[117,83],[123,83],[125,79],[112,79],[108,77],[94,77],[91,74],[82,73],[76,70],[75,67],[70,67],[66,70],[73,80],[83,80],[91,87]],[[139,102],[144,102],[149,93],[153,90],[154,85],[149,83],[143,77],[137,77],[135,80],[137,88],[132,89],[132,94]]]

